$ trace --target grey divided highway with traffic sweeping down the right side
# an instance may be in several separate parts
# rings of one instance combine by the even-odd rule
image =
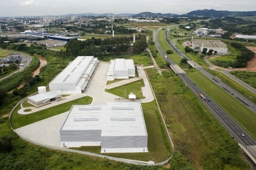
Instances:
[[[166,55],[166,53],[164,53],[163,49],[160,47],[160,45],[158,43],[158,33],[160,32],[161,29],[162,28],[158,29],[158,31],[154,35],[155,36],[154,39],[155,39],[155,44],[156,44],[156,47],[158,48],[158,51],[162,54],[162,57],[164,58],[164,56],[167,56],[167,55]],[[167,36],[167,34],[166,34],[166,36]],[[173,45],[171,47],[173,47]],[[182,54],[175,47],[173,47],[173,49],[180,55]],[[184,55],[182,55],[182,57],[184,57]],[[167,57],[167,61],[171,64],[175,64],[169,57]],[[244,99],[244,97],[242,97],[242,95],[239,95],[239,93],[237,94],[237,92],[235,90],[231,90],[231,88],[226,86],[226,84],[219,81],[217,79],[217,77],[214,77],[213,75],[211,75],[210,73],[208,73],[207,71],[202,69],[201,66],[199,66],[196,63],[194,64],[194,66],[196,69],[200,70],[201,73],[204,73],[207,77],[209,77],[211,80],[213,80],[213,78],[214,78],[215,80],[213,80],[213,82],[215,82],[219,86],[222,86],[222,88],[224,88],[224,90],[226,90],[226,91],[229,90],[230,91],[229,93],[233,93],[234,97],[236,97],[236,98],[238,97],[239,99],[244,100],[245,104],[250,104],[248,101],[246,101],[246,99]],[[240,144],[246,146],[247,149],[250,150],[250,154],[252,154],[253,157],[256,159],[256,141],[250,136],[250,134],[248,134],[246,132],[246,130],[244,130],[226,112],[224,112],[224,110],[219,105],[217,105],[215,103],[215,101],[213,101],[213,99],[211,99],[211,97],[206,95],[206,93],[204,93],[204,91],[200,87],[198,87],[195,84],[195,82],[193,82],[185,73],[180,73],[180,74],[178,74],[178,76],[183,80],[184,84],[186,84],[186,86],[188,86],[191,89],[191,91],[198,97],[198,99],[200,99],[202,101],[202,104],[204,104],[204,106],[206,106],[206,108],[208,108],[210,110],[210,112],[213,114],[213,116],[215,116],[215,118],[218,121],[220,121],[220,123],[222,123],[222,125],[226,128],[226,130],[228,130],[228,132],[231,134],[231,136],[233,136],[233,138],[235,138],[235,141],[237,141],[237,143],[240,143]],[[217,82],[216,82],[216,80],[217,80]],[[206,99],[205,100],[202,99],[200,97],[200,94],[204,95],[206,97]],[[256,107],[248,106],[248,108],[250,108],[251,110],[255,110]],[[243,133],[244,136],[242,136],[241,133]]]

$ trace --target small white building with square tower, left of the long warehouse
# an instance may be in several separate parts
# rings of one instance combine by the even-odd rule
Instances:
[[[61,95],[59,95],[58,93],[46,92],[45,86],[38,87],[38,89],[38,95],[28,97],[28,103],[36,107],[43,106],[45,104],[50,104],[51,101],[58,101],[61,99]]]

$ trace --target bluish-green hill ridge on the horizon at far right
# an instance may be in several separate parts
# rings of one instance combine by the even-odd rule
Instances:
[[[182,16],[212,16],[221,18],[224,16],[256,16],[256,11],[218,11],[218,10],[195,10]]]

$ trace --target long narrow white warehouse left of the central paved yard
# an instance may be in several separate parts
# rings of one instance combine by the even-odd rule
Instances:
[[[50,91],[64,94],[82,93],[97,64],[98,58],[94,56],[78,56],[50,82]]]

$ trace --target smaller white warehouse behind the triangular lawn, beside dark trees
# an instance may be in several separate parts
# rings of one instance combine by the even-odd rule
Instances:
[[[123,58],[110,60],[109,70],[107,71],[107,81],[129,79],[129,77],[135,77],[134,60]]]

